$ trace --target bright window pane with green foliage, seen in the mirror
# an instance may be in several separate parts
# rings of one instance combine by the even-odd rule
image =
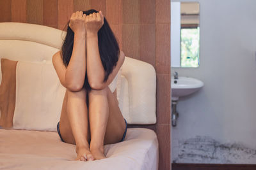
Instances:
[[[199,27],[180,30],[181,67],[199,66]]]

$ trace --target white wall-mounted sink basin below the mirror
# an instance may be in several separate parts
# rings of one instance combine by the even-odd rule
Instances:
[[[178,79],[174,79],[172,76],[172,101],[177,101],[179,97],[193,94],[203,86],[204,83],[195,78],[179,76]]]

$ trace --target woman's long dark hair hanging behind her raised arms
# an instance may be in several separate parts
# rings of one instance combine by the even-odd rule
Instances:
[[[93,12],[97,13],[98,11],[96,10],[83,11],[83,13],[85,13],[86,15],[90,15],[90,13],[93,13]],[[70,61],[72,51],[73,51],[73,45],[74,45],[74,32],[69,27],[69,22],[70,21],[68,20],[67,25],[65,26],[65,28],[67,27],[67,34],[63,41],[63,45],[61,46],[61,57],[65,67],[68,66],[68,63]],[[111,28],[109,27],[109,24],[105,17],[104,17],[104,24],[98,31],[98,45],[99,45],[100,59],[106,73],[103,81],[107,81],[109,74],[111,74],[113,71],[113,67],[116,66],[116,62],[118,61],[118,57],[120,54],[120,49],[118,46],[118,42],[115,38],[115,35],[111,30]],[[85,87],[86,90],[91,89],[90,84],[88,82],[87,71],[84,78],[83,87]]]

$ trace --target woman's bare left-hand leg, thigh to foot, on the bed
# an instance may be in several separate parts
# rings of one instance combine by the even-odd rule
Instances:
[[[93,160],[88,145],[88,108],[86,90],[66,91],[60,118],[61,137],[76,145],[76,160]]]

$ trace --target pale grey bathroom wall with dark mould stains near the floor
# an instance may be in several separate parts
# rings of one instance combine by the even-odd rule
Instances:
[[[256,163],[256,1],[199,0],[200,67],[172,68],[204,81],[180,99],[172,160]]]

